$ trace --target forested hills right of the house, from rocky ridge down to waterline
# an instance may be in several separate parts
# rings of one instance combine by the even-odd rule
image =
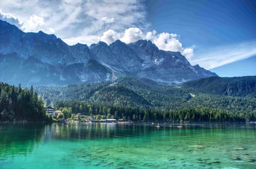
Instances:
[[[211,83],[208,86],[207,81]],[[211,77],[181,85],[124,77],[115,85],[99,82],[39,86],[36,91],[47,105],[92,116],[146,121],[256,120],[255,76],[228,80]]]

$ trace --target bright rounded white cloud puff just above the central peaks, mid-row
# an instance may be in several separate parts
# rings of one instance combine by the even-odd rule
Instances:
[[[124,37],[120,40],[124,43],[132,43],[140,39],[144,39],[144,35],[139,28],[135,27],[126,29],[124,32]]]

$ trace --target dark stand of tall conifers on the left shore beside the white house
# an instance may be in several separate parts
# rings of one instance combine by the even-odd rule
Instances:
[[[44,102],[30,89],[15,87],[0,82],[0,121],[29,120],[48,121],[45,114]]]

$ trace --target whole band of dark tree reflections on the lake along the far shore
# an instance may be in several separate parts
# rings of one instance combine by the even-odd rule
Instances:
[[[159,139],[166,139],[172,141],[172,143],[177,142],[179,144],[180,139],[188,137],[196,137],[195,142],[204,141],[199,138],[211,137],[212,142],[215,142],[220,141],[219,137],[223,137],[223,139],[243,137],[244,132],[254,129],[248,128],[250,124],[241,124],[241,126],[247,127],[239,127],[239,124],[233,123],[183,123],[182,128],[177,128],[179,126],[178,123],[160,125],[158,129],[151,124],[145,123],[134,123],[131,125],[90,123],[88,127],[87,123],[70,123],[69,127],[66,126],[66,123],[0,123],[0,158],[7,155],[26,156],[39,144],[51,144],[51,142],[55,141],[76,142],[95,140],[95,142],[90,142],[92,147],[99,146],[99,144],[102,144],[101,141],[110,141],[109,143],[111,144],[114,139],[122,139],[124,143],[126,141],[129,142],[129,139],[125,140],[128,137],[134,137],[136,144],[145,144],[145,141],[147,144],[155,144]],[[225,135],[230,132],[230,128],[236,128],[236,136]],[[137,137],[144,137],[144,139],[137,139]],[[101,141],[98,142],[97,140]],[[87,144],[84,146],[86,147]]]

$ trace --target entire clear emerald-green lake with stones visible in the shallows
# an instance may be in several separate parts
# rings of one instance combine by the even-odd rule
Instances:
[[[0,123],[0,168],[256,168],[256,124]]]

